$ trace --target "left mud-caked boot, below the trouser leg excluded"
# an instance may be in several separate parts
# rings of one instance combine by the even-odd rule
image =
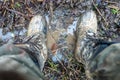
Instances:
[[[26,38],[28,49],[36,54],[41,71],[47,59],[46,25],[46,21],[41,15],[34,16],[30,21]]]

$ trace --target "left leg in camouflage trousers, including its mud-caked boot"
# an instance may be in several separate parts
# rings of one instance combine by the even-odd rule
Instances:
[[[0,80],[44,79],[41,71],[47,59],[45,25],[42,16],[37,15],[32,18],[28,36],[21,43],[9,42],[0,47]],[[5,74],[6,77],[4,77]],[[16,76],[19,79],[15,78]]]

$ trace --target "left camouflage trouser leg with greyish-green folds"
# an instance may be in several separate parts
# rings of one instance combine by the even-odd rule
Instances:
[[[11,42],[0,47],[0,72],[2,71],[17,72],[23,75],[25,80],[44,79],[41,70],[32,61],[28,53],[15,47]]]

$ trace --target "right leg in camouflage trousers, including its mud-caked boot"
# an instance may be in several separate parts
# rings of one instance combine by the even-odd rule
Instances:
[[[79,20],[77,28],[75,56],[85,65],[87,77],[91,80],[119,80],[120,44],[99,45],[95,49],[93,48],[95,42],[91,38],[97,34],[95,13],[93,11],[85,12]],[[98,51],[100,48],[105,49]]]

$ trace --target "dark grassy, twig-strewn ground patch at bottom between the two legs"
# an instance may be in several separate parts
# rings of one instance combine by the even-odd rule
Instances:
[[[54,63],[51,59],[48,59],[44,68],[44,74],[46,75],[46,79],[49,80],[79,80],[81,79],[81,75],[84,74],[83,65],[76,61],[73,54],[67,55],[66,58],[68,62],[65,63],[61,61],[61,63]],[[66,70],[63,68],[66,68]],[[83,79],[84,80],[84,79]]]

